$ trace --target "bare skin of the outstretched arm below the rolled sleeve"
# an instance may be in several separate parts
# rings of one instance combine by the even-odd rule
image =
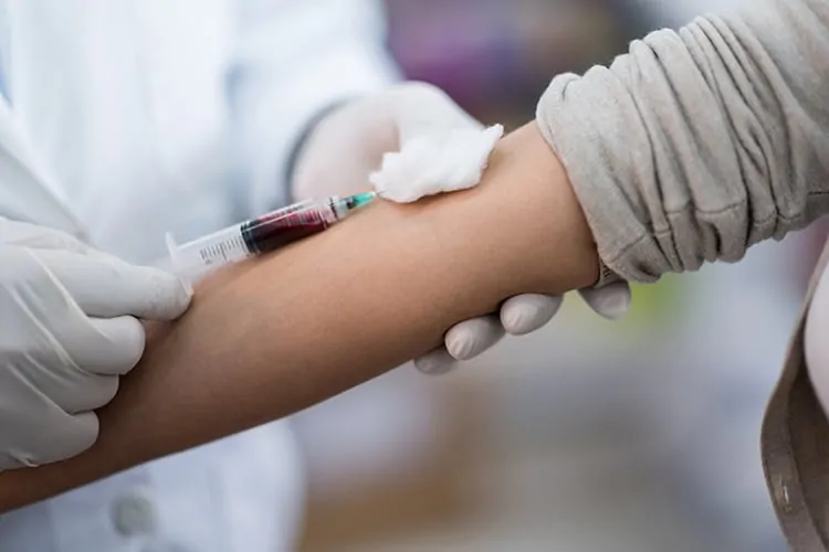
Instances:
[[[431,350],[510,296],[589,286],[597,269],[562,167],[525,127],[478,189],[372,205],[207,280],[185,317],[151,329],[99,413],[95,446],[0,474],[0,511],[292,414]]]

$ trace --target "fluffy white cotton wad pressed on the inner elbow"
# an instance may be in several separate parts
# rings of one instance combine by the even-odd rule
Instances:
[[[427,195],[465,190],[478,184],[504,127],[463,128],[419,136],[400,151],[386,153],[380,170],[369,176],[378,195],[410,203]]]

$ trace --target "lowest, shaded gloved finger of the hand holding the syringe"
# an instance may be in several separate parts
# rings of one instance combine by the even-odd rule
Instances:
[[[54,408],[24,444],[0,450],[0,470],[42,466],[76,456],[98,438],[98,417],[94,412],[70,415]]]

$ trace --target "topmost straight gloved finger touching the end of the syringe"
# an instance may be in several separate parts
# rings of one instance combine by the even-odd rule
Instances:
[[[88,316],[174,320],[190,305],[190,287],[157,268],[130,265],[105,254],[32,251]]]

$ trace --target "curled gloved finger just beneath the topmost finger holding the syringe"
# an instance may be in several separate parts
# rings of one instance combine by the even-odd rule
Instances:
[[[144,327],[129,316],[78,319],[52,331],[71,361],[88,373],[123,375],[144,354]]]

